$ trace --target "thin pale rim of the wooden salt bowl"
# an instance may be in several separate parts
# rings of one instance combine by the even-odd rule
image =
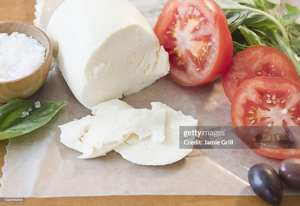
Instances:
[[[13,80],[10,80],[10,81],[0,82],[0,85],[3,85],[3,84],[7,84],[7,83],[19,82],[20,80],[26,79],[27,77],[29,77],[29,76],[33,75],[34,73],[38,72],[38,70],[42,69],[44,67],[44,65],[46,64],[46,62],[49,60],[49,58],[52,55],[52,45],[51,45],[51,41],[50,41],[49,37],[47,36],[47,34],[44,31],[42,31],[40,28],[38,28],[38,27],[36,27],[36,26],[34,26],[32,24],[29,24],[29,23],[26,23],[26,22],[19,22],[19,21],[0,21],[0,24],[1,23],[4,23],[4,24],[5,23],[7,23],[7,24],[9,24],[9,23],[23,24],[23,25],[29,26],[29,27],[31,27],[33,29],[36,29],[39,32],[41,32],[41,34],[43,34],[44,37],[46,37],[46,40],[47,40],[48,45],[49,45],[49,49],[48,49],[49,51],[47,53],[47,56],[45,56],[45,60],[41,64],[41,66],[39,66],[37,69],[35,69],[32,73],[27,74],[26,76],[22,76],[19,79],[13,79]],[[26,34],[26,35],[28,35],[28,34]],[[45,45],[43,45],[43,46],[45,47]]]

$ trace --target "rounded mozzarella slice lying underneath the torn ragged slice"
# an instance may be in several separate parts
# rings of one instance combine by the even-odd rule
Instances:
[[[165,141],[157,144],[150,138],[140,139],[132,135],[114,150],[126,160],[140,165],[166,165],[181,160],[192,149],[179,149],[179,126],[197,126],[198,120],[160,102],[151,105],[152,111],[166,110]]]

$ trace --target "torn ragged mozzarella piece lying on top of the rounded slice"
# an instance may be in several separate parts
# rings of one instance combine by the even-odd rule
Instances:
[[[59,126],[61,142],[82,152],[79,158],[105,155],[132,135],[149,136],[156,143],[165,140],[165,109],[134,109],[121,100],[111,100],[94,107],[93,112],[95,116]]]

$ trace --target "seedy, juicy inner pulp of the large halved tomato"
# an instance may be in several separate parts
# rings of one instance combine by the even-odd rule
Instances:
[[[170,40],[170,61],[177,69],[186,72],[193,67],[200,70],[204,67],[211,50],[211,34],[202,35],[201,28],[207,25],[207,19],[194,6],[190,6],[187,18],[181,19],[178,10],[171,14],[173,20],[166,30],[165,38]]]

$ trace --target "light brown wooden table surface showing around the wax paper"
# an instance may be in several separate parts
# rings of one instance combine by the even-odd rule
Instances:
[[[45,0],[46,1],[46,0]],[[50,0],[49,0],[50,1]],[[33,24],[35,0],[0,0],[0,21],[14,20]],[[0,105],[1,106],[1,105]],[[8,140],[0,141],[0,167],[4,165],[4,155]],[[0,172],[2,175],[2,170]],[[211,186],[213,187],[213,185]],[[26,198],[25,203],[0,203],[0,205],[268,205],[256,196],[97,196]],[[284,196],[281,205],[300,205],[300,196]]]

